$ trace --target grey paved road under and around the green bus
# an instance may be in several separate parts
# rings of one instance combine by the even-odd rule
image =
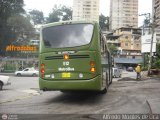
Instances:
[[[122,77],[135,78],[134,72]],[[0,91],[0,113],[7,114],[160,114],[160,79],[113,80],[107,94],[62,93],[38,89],[37,77],[11,76]]]

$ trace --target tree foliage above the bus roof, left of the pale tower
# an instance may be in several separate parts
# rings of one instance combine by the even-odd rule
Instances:
[[[55,5],[52,12],[47,18],[47,23],[58,22],[60,20],[71,20],[72,19],[72,10],[66,6],[57,6]]]

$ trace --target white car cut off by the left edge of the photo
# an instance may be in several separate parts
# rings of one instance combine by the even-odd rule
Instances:
[[[0,75],[0,90],[2,90],[3,86],[6,86],[6,85],[11,85],[10,77]]]

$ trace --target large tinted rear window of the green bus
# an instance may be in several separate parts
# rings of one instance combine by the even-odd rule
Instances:
[[[51,48],[75,47],[89,44],[92,34],[92,24],[59,25],[42,30],[44,45]]]

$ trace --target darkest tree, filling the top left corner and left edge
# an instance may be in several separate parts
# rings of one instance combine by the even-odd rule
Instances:
[[[0,48],[1,55],[5,54],[5,47],[9,44],[11,29],[7,20],[11,15],[24,13],[23,0],[1,0],[0,1]]]

